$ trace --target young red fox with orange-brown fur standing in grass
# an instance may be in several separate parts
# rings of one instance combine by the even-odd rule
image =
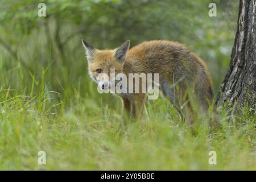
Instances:
[[[167,40],[143,42],[131,49],[130,40],[115,49],[99,50],[82,40],[88,60],[89,75],[100,88],[109,88],[111,81],[102,82],[102,73],[158,73],[160,89],[188,122],[193,122],[193,103],[207,113],[213,100],[212,81],[207,65],[183,44]],[[115,84],[115,83],[114,83]],[[191,101],[192,94],[194,101]],[[141,118],[145,93],[119,94],[123,107],[131,117]]]

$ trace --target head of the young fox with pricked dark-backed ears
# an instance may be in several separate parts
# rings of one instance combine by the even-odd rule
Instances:
[[[123,63],[126,53],[130,47],[130,40],[126,40],[121,46],[112,50],[99,50],[90,46],[82,40],[85,48],[85,55],[88,60],[89,75],[97,82],[101,89],[109,89],[110,85],[115,84],[115,80],[110,79],[110,73],[122,73]],[[107,79],[106,79],[106,76]]]

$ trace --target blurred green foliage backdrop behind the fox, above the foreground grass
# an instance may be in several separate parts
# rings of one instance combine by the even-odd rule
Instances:
[[[211,2],[217,4],[217,17],[208,15]],[[71,98],[74,92],[81,97],[95,95],[96,85],[88,76],[81,39],[99,49],[115,48],[127,39],[131,40],[131,47],[154,39],[186,44],[208,64],[215,94],[229,67],[238,1],[48,0],[44,3],[46,17],[38,16],[38,1],[0,2],[3,88],[30,96],[53,90],[60,93],[54,96],[58,100]]]

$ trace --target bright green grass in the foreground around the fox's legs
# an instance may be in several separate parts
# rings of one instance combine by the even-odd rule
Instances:
[[[181,122],[166,100],[149,102],[141,121],[124,122],[118,99],[108,106],[95,92],[75,93],[55,103],[56,94],[31,98],[1,89],[0,169],[256,169],[256,118],[249,111],[228,122],[219,109],[221,126],[209,133],[207,122],[193,130]],[[46,165],[38,164],[42,150]],[[212,150],[216,165],[208,163]]]

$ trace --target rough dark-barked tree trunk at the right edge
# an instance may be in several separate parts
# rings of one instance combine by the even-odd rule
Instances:
[[[256,0],[240,0],[237,33],[228,73],[216,104],[249,105],[256,109]]]

